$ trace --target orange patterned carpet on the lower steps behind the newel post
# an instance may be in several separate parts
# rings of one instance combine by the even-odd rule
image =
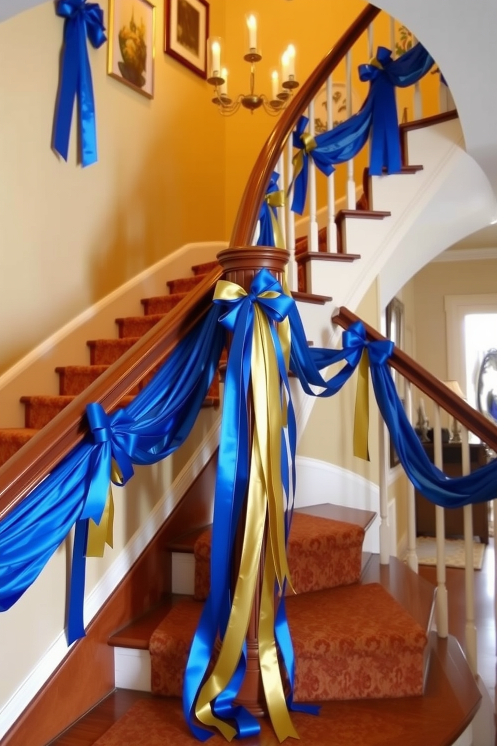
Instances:
[[[203,595],[209,532],[197,539]],[[359,584],[361,527],[296,513],[289,565],[297,595],[287,598],[294,642],[296,701],[421,695],[426,633],[378,583]],[[319,590],[317,590],[319,589]],[[180,600],[151,636],[153,694],[181,697],[191,640],[203,604]]]

